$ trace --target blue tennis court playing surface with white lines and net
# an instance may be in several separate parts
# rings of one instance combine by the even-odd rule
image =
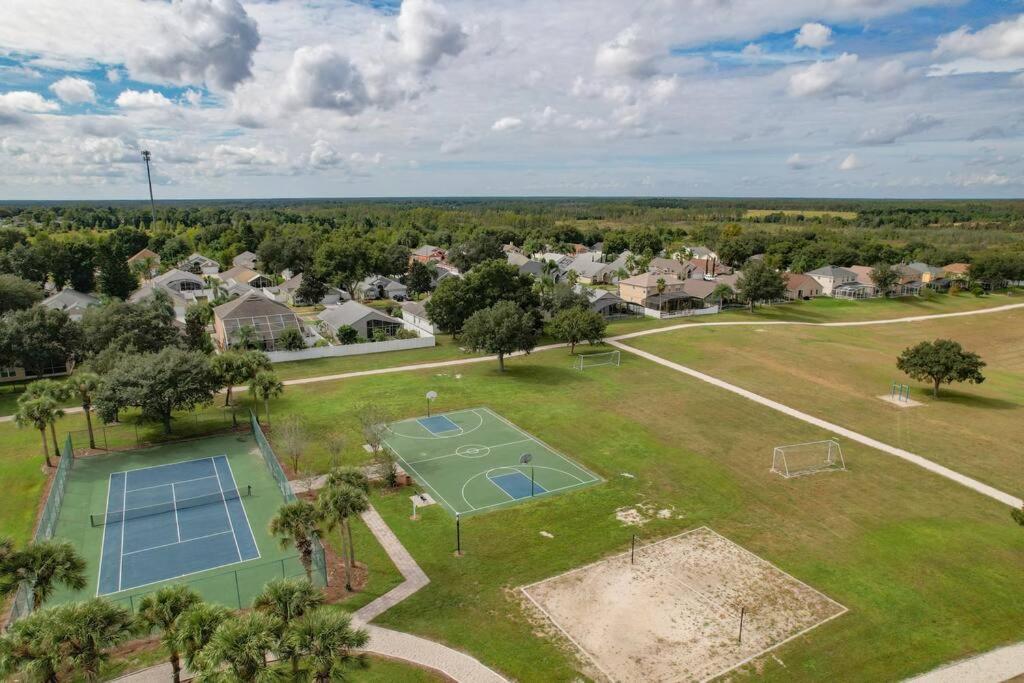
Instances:
[[[109,485],[97,595],[260,556],[226,456],[115,472]]]

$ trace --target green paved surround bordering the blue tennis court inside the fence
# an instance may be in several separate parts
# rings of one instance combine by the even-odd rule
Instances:
[[[68,478],[54,537],[72,542],[85,558],[88,583],[81,591],[56,593],[52,601],[58,603],[82,600],[96,595],[105,527],[93,526],[90,514],[103,513],[108,509],[108,487],[112,472],[220,455],[227,456],[238,485],[242,488],[247,485],[253,487],[252,496],[240,500],[248,516],[260,558],[193,573],[180,580],[170,579],[159,584],[127,589],[112,593],[108,598],[133,608],[141,596],[152,593],[160,586],[185,582],[204,599],[237,608],[251,604],[253,597],[271,579],[303,575],[295,550],[282,549],[267,530],[270,518],[284,499],[255,447],[251,435],[238,434],[77,459]]]

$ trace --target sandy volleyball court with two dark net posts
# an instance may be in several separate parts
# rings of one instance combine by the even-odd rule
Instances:
[[[846,611],[707,527],[522,591],[613,681],[707,680]]]

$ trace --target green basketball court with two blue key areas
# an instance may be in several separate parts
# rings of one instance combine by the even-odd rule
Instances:
[[[601,480],[488,408],[391,423],[384,444],[453,514],[493,510]]]

